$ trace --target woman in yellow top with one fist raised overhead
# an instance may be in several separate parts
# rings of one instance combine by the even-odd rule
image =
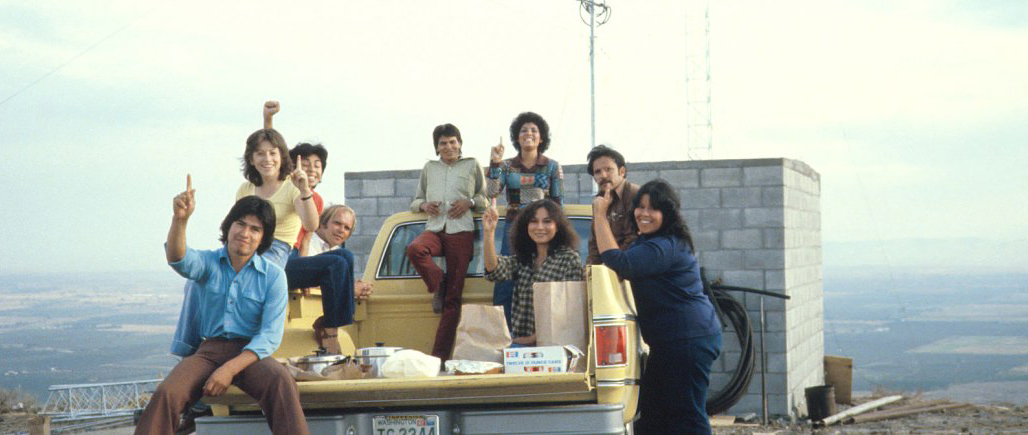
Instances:
[[[318,208],[307,174],[289,160],[286,140],[273,129],[261,129],[247,138],[243,154],[243,175],[247,182],[235,191],[235,200],[255,194],[274,208],[274,242],[262,254],[280,267],[286,267],[289,251],[302,226],[307,232],[318,229]],[[286,182],[289,178],[290,182]]]

